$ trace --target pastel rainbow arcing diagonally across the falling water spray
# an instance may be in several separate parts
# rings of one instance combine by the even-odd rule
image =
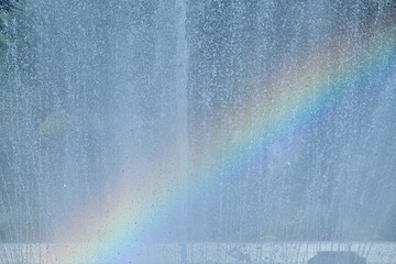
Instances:
[[[341,37],[266,79],[258,92],[242,101],[243,111],[231,117],[233,133],[224,134],[219,125],[224,114],[220,114],[212,124],[209,150],[197,151],[198,162],[189,168],[188,177],[178,172],[177,144],[169,147],[175,151],[158,155],[152,165],[140,168],[142,175],[138,170],[118,174],[111,201],[88,205],[92,209],[65,223],[56,243],[44,253],[43,262],[133,263],[142,244],[155,239],[166,216],[176,210],[186,195],[180,186],[190,186],[188,197],[199,199],[206,186],[218,186],[220,163],[241,164],[241,158],[246,164],[260,162],[263,145],[293,141],[349,94],[360,92],[369,82],[381,85],[395,74],[394,25],[348,37],[349,43],[359,46],[346,44],[346,38]],[[234,176],[231,167],[221,169],[222,174]]]

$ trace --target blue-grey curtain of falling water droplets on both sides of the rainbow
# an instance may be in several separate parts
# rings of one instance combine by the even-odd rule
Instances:
[[[0,44],[0,241],[52,238],[75,205],[111,196],[120,165],[177,139],[188,172],[213,120],[241,111],[277,68],[396,13],[381,0],[18,4]],[[263,146],[260,165],[221,176],[199,206],[187,196],[162,239],[396,240],[394,69],[314,120],[299,144]]]

